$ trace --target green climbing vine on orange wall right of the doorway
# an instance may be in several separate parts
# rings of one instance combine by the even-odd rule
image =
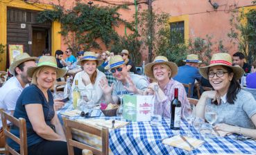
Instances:
[[[76,3],[71,10],[56,6],[55,10],[39,12],[37,21],[40,23],[60,21],[61,35],[65,37],[65,44],[75,51],[99,48],[100,41],[108,48],[112,42],[118,42],[119,36],[114,26],[125,24],[134,30],[128,21],[121,19],[117,10],[128,9],[127,6],[88,6]],[[100,41],[99,41],[100,40]]]

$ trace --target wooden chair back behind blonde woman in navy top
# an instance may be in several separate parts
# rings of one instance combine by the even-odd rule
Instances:
[[[1,119],[3,122],[3,133],[5,136],[6,142],[7,142],[8,138],[14,140],[16,143],[19,144],[20,154],[21,155],[28,154],[28,147],[27,147],[27,141],[26,141],[26,120],[24,118],[17,119],[15,117],[9,115],[8,113],[6,113],[3,110],[1,110]],[[10,131],[8,130],[7,120],[12,122],[12,125],[15,125],[16,127],[19,128],[19,137],[10,133]],[[7,155],[8,154],[13,154],[13,155],[19,154],[18,152],[15,151],[15,149],[12,149],[12,147],[10,147],[8,145],[8,143],[6,143],[6,152],[5,153]]]

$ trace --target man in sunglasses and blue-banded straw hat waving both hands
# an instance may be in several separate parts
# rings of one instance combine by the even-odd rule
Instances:
[[[117,79],[117,82],[114,82],[111,86],[108,85],[107,80],[101,80],[101,88],[108,103],[117,104],[117,95],[143,94],[143,91],[148,87],[148,81],[145,78],[128,73],[126,63],[120,55],[111,57],[110,64],[105,69],[109,69],[113,77]]]

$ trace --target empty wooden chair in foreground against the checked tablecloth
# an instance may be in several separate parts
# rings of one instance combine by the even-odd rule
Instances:
[[[63,121],[64,121],[65,129],[66,129],[67,149],[68,149],[69,155],[74,155],[74,147],[83,149],[84,154],[85,154],[85,152],[87,154],[90,154],[90,151],[91,151],[93,154],[96,154],[96,155],[98,155],[98,154],[108,155],[108,153],[109,153],[108,128],[102,127],[101,129],[98,129],[96,127],[85,125],[83,123],[76,122],[74,120],[68,120],[67,118],[63,118]],[[84,131],[89,134],[93,134],[93,135],[101,137],[102,149],[99,150],[90,145],[80,143],[77,140],[73,140],[72,134],[71,134],[71,129],[78,129],[80,131]]]

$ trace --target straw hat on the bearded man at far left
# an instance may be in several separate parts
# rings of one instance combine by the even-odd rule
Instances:
[[[35,61],[38,61],[38,57],[31,57],[28,55],[28,53],[22,53],[20,55],[17,55],[12,64],[10,65],[10,68],[9,68],[9,72],[12,74],[12,75],[15,75],[15,68],[17,66],[19,66],[19,64],[22,64],[23,62],[26,62],[28,60],[35,60]]]

